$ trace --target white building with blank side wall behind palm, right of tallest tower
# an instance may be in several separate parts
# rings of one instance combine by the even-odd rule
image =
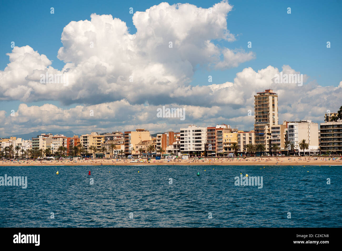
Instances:
[[[299,143],[305,139],[309,144],[309,149],[305,152],[318,153],[318,123],[313,123],[311,120],[288,122],[287,130],[287,138],[294,145],[296,152],[303,153]]]

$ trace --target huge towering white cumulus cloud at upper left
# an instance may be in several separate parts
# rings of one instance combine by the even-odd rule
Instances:
[[[254,58],[252,52],[215,44],[235,40],[227,29],[231,10],[227,1],[210,9],[160,3],[133,15],[135,34],[111,15],[92,14],[90,20],[70,22],[58,51],[65,67],[58,71],[29,46],[15,47],[8,54],[10,64],[0,71],[0,99],[96,104],[124,98],[134,104],[194,104],[174,98],[177,89],[189,88],[198,66],[227,69]],[[68,85],[41,83],[40,75],[47,71],[67,74]]]

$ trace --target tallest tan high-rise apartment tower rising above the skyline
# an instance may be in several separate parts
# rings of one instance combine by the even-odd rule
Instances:
[[[254,95],[255,144],[264,144],[269,152],[271,126],[278,125],[278,94],[268,89]]]

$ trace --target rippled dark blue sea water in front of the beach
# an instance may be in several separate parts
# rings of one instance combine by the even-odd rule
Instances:
[[[342,166],[263,167],[0,167],[28,183],[0,186],[0,227],[342,227]]]

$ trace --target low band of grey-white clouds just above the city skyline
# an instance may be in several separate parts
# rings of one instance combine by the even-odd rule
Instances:
[[[184,120],[158,117],[157,109],[162,106],[148,103],[131,104],[126,99],[70,109],[58,108],[52,104],[40,107],[20,104],[15,116],[0,111],[3,125],[0,127],[0,135],[32,130],[63,129],[87,133],[91,130],[102,132],[135,128],[147,128],[156,133],[166,130],[178,131],[180,127],[189,124],[213,126],[217,123],[231,124],[240,129],[252,129],[254,95],[270,87],[278,93],[279,123],[282,123],[282,120],[304,119],[321,122],[327,110],[337,111],[341,106],[341,103],[336,101],[342,96],[342,81],[337,87],[323,87],[314,82],[302,86],[272,83],[274,75],[279,73],[279,70],[272,66],[259,71],[245,68],[236,74],[232,83],[189,87],[186,91],[180,92],[179,96],[192,97],[194,101],[197,98],[197,105],[165,104],[166,108],[184,109]],[[293,74],[295,71],[285,65],[282,73]],[[221,105],[210,103],[210,100],[213,101],[210,98],[212,96],[218,98]]]

